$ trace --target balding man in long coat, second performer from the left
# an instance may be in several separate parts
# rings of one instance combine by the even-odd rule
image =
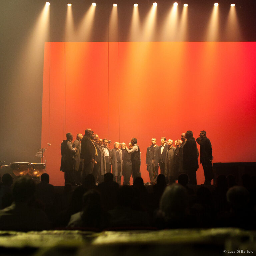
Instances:
[[[78,133],[76,135],[76,140],[73,143],[73,147],[77,148],[76,154],[75,154],[74,179],[75,179],[75,183],[78,185],[81,184],[81,173],[84,168],[84,160],[80,158],[82,138],[83,138],[83,135],[81,133]]]

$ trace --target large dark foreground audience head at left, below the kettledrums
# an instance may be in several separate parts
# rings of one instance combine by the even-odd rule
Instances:
[[[13,199],[15,203],[27,203],[33,198],[36,185],[32,178],[22,176],[18,178],[13,186]]]

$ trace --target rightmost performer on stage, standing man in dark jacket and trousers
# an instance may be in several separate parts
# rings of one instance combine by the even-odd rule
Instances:
[[[200,163],[204,169],[204,184],[210,185],[213,179],[213,169],[212,169],[212,144],[210,140],[206,137],[206,131],[200,132]]]

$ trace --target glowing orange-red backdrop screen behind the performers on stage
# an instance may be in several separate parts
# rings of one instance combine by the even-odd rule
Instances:
[[[214,162],[256,161],[256,42],[45,43],[42,147],[50,182],[64,185],[60,143],[91,128],[138,139],[142,178],[151,138],[207,131]],[[113,143],[112,143],[113,147]],[[203,169],[197,171],[203,183]]]

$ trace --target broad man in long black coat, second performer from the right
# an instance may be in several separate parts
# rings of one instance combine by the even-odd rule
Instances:
[[[185,133],[187,139],[183,146],[183,169],[189,177],[189,184],[196,185],[196,171],[198,169],[197,147],[192,131]]]

